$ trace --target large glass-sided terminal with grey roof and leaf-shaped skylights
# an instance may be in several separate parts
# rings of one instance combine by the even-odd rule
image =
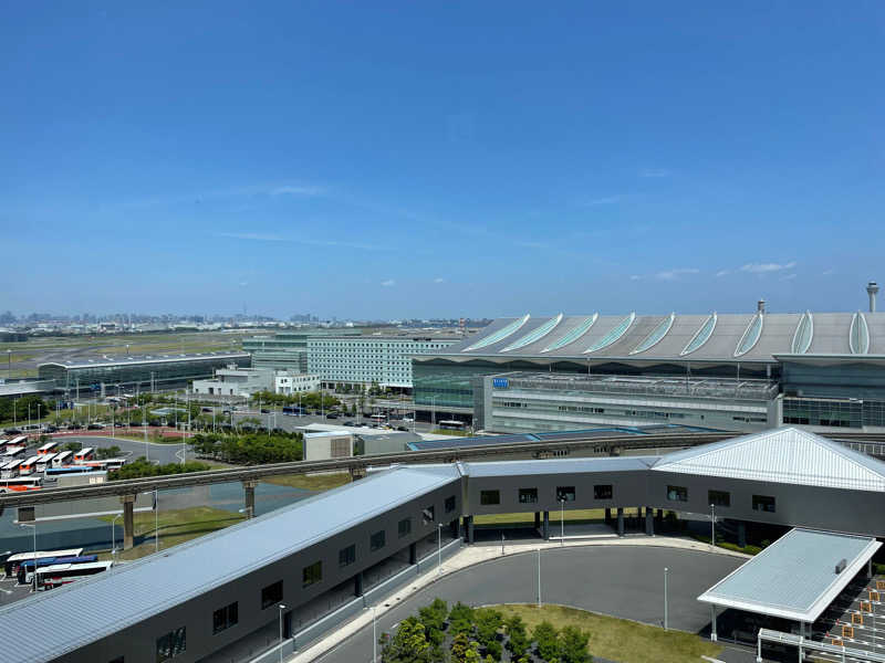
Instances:
[[[490,432],[671,420],[877,430],[885,314],[767,313],[764,302],[752,314],[527,314],[413,357],[413,380],[419,409]]]

